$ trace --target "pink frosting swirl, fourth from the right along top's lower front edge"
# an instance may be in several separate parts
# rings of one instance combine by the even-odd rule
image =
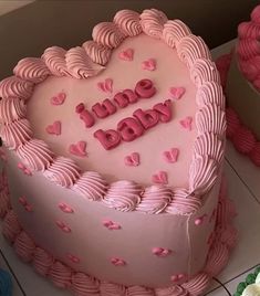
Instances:
[[[94,171],[84,172],[72,188],[90,200],[101,200],[106,193],[106,181]]]

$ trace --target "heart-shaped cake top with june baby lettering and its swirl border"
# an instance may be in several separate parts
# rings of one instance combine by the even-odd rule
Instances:
[[[225,99],[207,46],[181,21],[123,10],[93,41],[46,49],[13,73],[0,83],[1,137],[21,168],[110,208],[124,192],[127,210],[215,183]]]

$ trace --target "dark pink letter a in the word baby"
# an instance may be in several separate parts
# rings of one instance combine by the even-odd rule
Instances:
[[[125,141],[132,141],[144,134],[144,128],[138,120],[127,117],[117,124],[117,130]]]

